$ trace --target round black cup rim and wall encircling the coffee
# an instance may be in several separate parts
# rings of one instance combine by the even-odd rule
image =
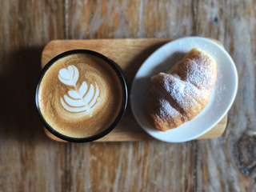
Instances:
[[[42,78],[46,74],[46,71],[49,70],[50,66],[54,65],[54,63],[57,62],[59,59],[65,58],[66,56],[70,56],[74,54],[87,54],[87,55],[92,55],[96,58],[102,59],[104,62],[109,64],[109,66],[114,70],[114,73],[118,76],[118,80],[120,81],[120,84],[122,87],[121,108],[118,111],[118,115],[116,116],[116,118],[114,118],[114,122],[112,122],[110,126],[106,127],[106,129],[102,129],[102,132],[86,138],[75,138],[75,137],[70,137],[68,135],[59,133],[57,130],[54,129],[54,127],[50,126],[46,118],[44,118],[42,111],[40,110],[40,104],[39,104],[39,88],[41,86]],[[109,134],[110,131],[113,130],[114,127],[117,126],[118,122],[121,120],[122,115],[126,110],[127,100],[128,100],[128,97],[127,97],[126,81],[124,76],[122,75],[121,70],[119,70],[118,65],[114,61],[110,60],[110,58],[106,58],[106,56],[92,50],[70,50],[62,54],[58,54],[55,58],[51,59],[50,62],[48,62],[46,66],[44,66],[44,68],[42,69],[42,72],[38,78],[38,83],[37,83],[36,92],[35,92],[35,104],[38,110],[38,115],[42,120],[42,123],[44,124],[46,129],[50,131],[51,134],[54,134],[54,136],[56,136],[57,138],[61,138],[62,140],[65,140],[67,142],[92,142],[94,140],[97,140],[98,138],[104,137],[106,134]],[[85,125],[85,129],[86,129],[86,125]]]

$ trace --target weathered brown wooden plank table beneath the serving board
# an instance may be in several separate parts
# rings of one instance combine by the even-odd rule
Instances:
[[[0,0],[0,191],[256,191],[256,2]],[[220,138],[54,142],[34,106],[53,39],[216,38],[238,68]]]

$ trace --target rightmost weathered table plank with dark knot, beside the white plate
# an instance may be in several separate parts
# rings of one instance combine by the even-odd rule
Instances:
[[[256,158],[256,4],[255,1],[227,1],[219,6],[219,3],[222,2],[197,2],[200,11],[196,30],[198,35],[217,38],[230,52],[237,64],[239,86],[225,134],[214,141],[197,143],[197,177],[206,178],[198,180],[197,186],[198,190],[206,191],[256,191],[253,160]],[[246,161],[250,166],[245,165]],[[222,179],[214,179],[220,176]]]

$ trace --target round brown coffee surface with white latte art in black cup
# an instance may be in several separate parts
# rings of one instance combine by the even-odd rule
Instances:
[[[122,85],[109,63],[91,54],[58,59],[38,90],[42,117],[58,133],[88,138],[106,130],[122,106]]]

